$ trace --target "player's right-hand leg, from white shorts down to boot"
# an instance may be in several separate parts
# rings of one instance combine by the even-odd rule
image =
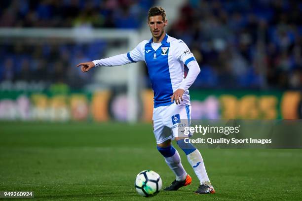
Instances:
[[[200,186],[198,187],[195,193],[214,193],[214,188],[211,185],[210,179],[205,169],[202,156],[198,149],[196,149],[191,143],[185,142],[184,135],[180,132],[182,127],[190,125],[190,110],[191,106],[186,104],[179,104],[171,107],[171,117],[172,119],[172,132],[175,140],[177,141],[178,146],[185,152],[189,164],[193,168],[196,176],[200,181]],[[173,117],[180,118],[179,120],[173,120]],[[169,119],[169,118],[167,118]],[[178,126],[175,126],[178,125]]]

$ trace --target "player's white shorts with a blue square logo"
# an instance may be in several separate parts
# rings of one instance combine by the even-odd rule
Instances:
[[[179,136],[180,130],[190,125],[191,106],[185,103],[160,106],[153,109],[153,133],[156,143]]]

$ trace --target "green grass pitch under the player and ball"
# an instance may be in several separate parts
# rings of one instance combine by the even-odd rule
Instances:
[[[36,200],[55,201],[302,200],[302,150],[200,150],[216,194],[195,195],[198,180],[177,149],[192,184],[143,198],[134,188],[141,170],[159,173],[163,186],[174,180],[151,124],[0,122],[0,191],[31,190]]]

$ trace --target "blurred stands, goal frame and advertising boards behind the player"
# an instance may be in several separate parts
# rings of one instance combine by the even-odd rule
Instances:
[[[75,66],[151,38],[152,5],[200,65],[193,119],[302,117],[299,1],[11,0],[0,2],[0,119],[150,122],[144,63]]]

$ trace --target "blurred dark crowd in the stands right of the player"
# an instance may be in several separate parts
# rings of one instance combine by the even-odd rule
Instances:
[[[215,86],[302,88],[293,59],[301,57],[293,53],[301,47],[301,9],[295,0],[189,0],[169,33],[199,49],[200,74],[205,68],[213,77],[217,70]]]

